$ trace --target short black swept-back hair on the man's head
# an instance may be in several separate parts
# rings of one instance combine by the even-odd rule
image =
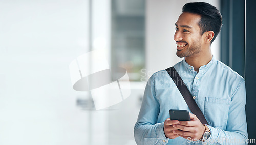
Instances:
[[[183,6],[182,12],[200,15],[201,19],[198,25],[201,29],[201,35],[207,31],[214,31],[215,35],[214,38],[212,38],[211,43],[215,40],[222,26],[221,13],[215,6],[205,2],[187,3]]]

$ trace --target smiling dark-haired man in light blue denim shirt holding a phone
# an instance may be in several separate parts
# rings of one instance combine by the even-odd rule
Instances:
[[[208,3],[187,3],[175,23],[177,56],[174,68],[186,84],[209,125],[190,113],[191,121],[170,120],[169,109],[189,110],[167,71],[153,74],[145,88],[135,124],[137,144],[246,144],[244,79],[211,53],[222,16]],[[204,139],[205,132],[210,135]]]

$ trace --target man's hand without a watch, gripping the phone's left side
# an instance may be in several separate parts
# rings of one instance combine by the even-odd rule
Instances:
[[[179,123],[178,120],[170,120],[170,118],[167,118],[164,121],[163,130],[164,130],[164,134],[167,138],[174,139],[174,138],[179,137],[179,135],[173,133],[173,130],[177,130],[177,128],[174,128],[173,125],[178,124],[178,123]]]

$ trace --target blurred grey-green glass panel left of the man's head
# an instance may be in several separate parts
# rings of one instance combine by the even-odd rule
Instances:
[[[145,67],[145,1],[112,1],[112,67],[123,67],[140,81]]]

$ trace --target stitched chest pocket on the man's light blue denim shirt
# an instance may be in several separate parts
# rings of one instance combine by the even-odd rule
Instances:
[[[205,97],[204,115],[210,126],[226,128],[230,102],[229,99]]]

